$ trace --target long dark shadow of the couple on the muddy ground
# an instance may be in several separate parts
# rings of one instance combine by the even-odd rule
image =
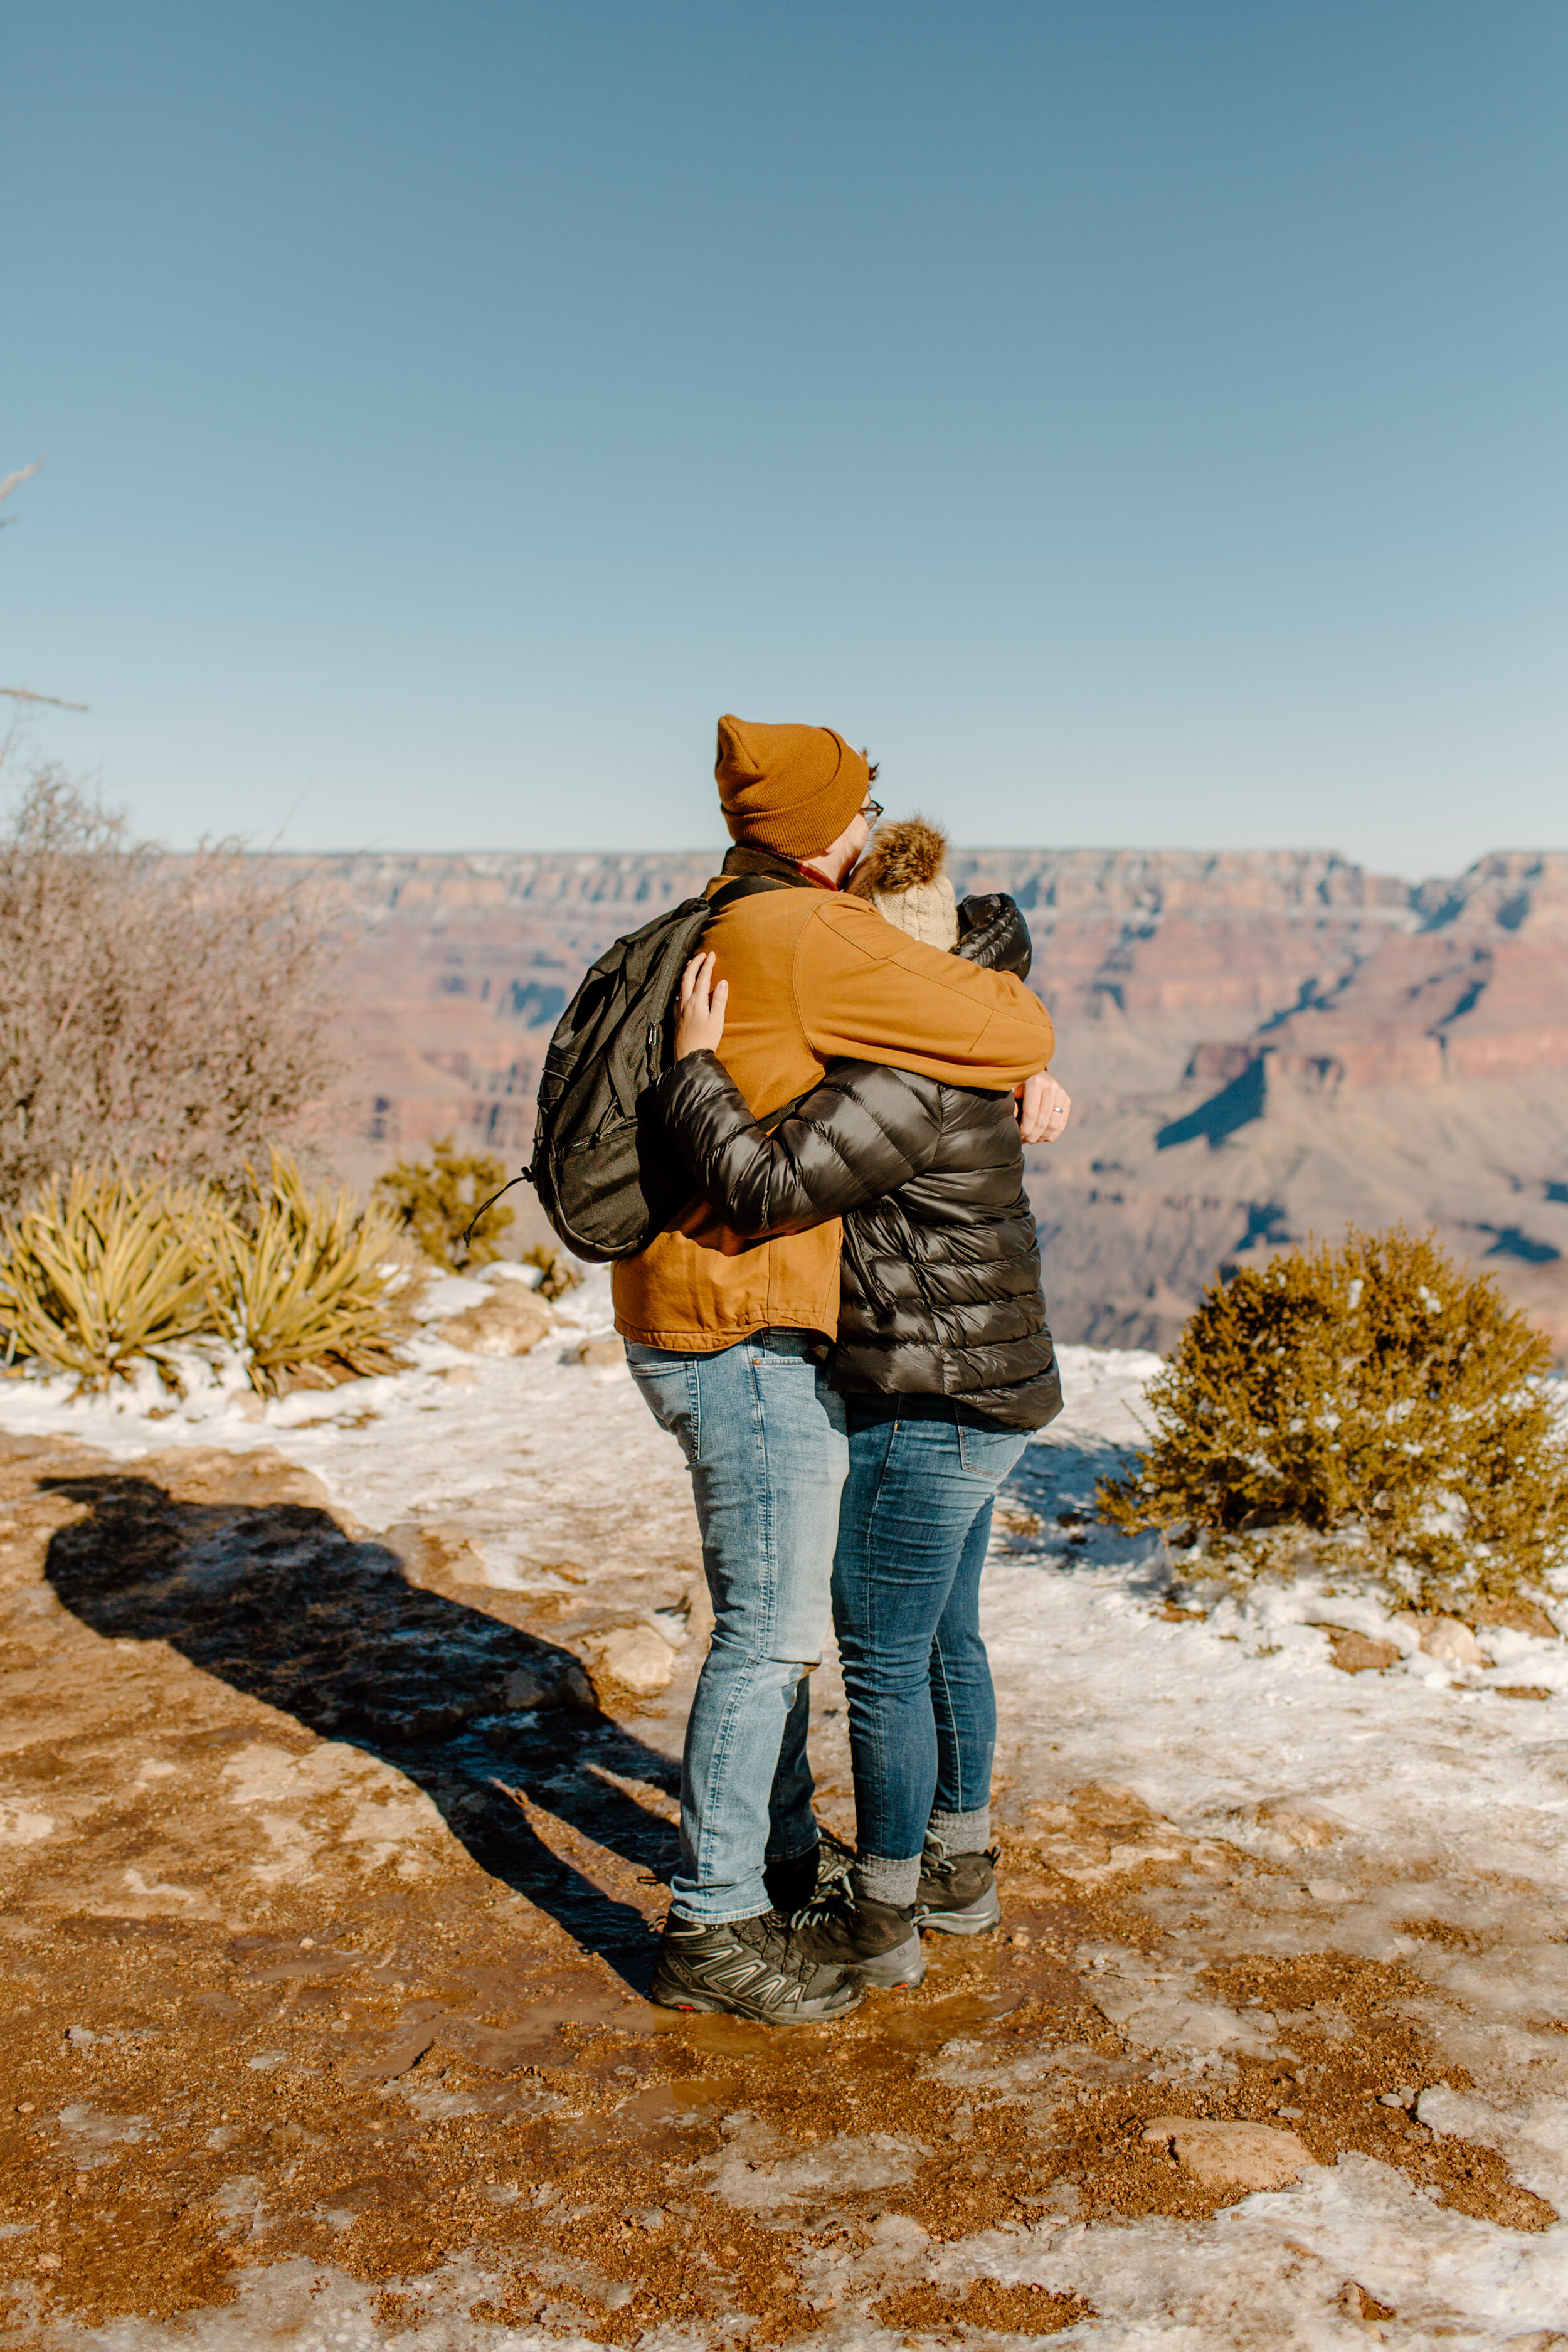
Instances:
[[[381,1757],[482,1870],[646,1987],[642,1912],[552,1853],[503,1795],[520,1790],[632,1865],[651,1867],[670,1844],[668,1823],[607,1773],[675,1795],[677,1766],[592,1703],[569,1651],[411,1585],[395,1552],[306,1503],[176,1503],[132,1475],[40,1486],[87,1510],[56,1529],[45,1566],[75,1618],[108,1639],[167,1642],[322,1738]]]

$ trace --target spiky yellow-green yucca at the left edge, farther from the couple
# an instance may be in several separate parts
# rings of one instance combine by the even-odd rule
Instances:
[[[221,1228],[202,1185],[139,1183],[73,1167],[31,1207],[0,1218],[0,1331],[7,1362],[31,1357],[103,1388],[212,1329],[212,1254]]]

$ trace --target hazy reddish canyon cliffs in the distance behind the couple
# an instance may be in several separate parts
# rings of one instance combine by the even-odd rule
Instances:
[[[350,908],[355,1178],[454,1129],[529,1155],[550,1030],[712,851],[289,861]],[[1326,851],[964,849],[1056,1016],[1067,1136],[1030,1155],[1065,1341],[1166,1348],[1218,1265],[1434,1225],[1568,1350],[1568,854],[1410,887]],[[524,1202],[524,1230],[536,1209]]]

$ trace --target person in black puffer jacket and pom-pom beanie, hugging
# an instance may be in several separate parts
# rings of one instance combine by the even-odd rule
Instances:
[[[983,898],[954,910],[943,847],[931,828],[889,828],[865,896],[931,938],[945,889],[945,943],[1023,976],[1018,908]],[[827,1378],[846,1399],[849,1482],[832,1609],[858,1860],[816,1926],[872,1983],[919,1983],[919,1926],[978,1933],[1001,1917],[980,1571],[997,1486],[1063,1404],[1016,1105],[839,1061],[783,1120],[759,1122],[715,1051],[682,1051],[722,1030],[710,974],[698,957],[682,985],[679,1058],[661,1084],[670,1136],[748,1240],[844,1218]]]

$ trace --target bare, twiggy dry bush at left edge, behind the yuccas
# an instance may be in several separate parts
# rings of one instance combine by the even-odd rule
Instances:
[[[320,891],[40,771],[0,833],[0,1202],[110,1157],[235,1181],[336,1075],[331,962]]]

